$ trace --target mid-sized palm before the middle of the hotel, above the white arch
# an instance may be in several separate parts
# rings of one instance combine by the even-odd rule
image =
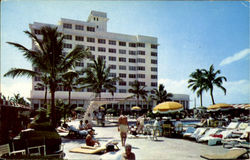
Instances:
[[[121,81],[119,77],[109,78],[110,67],[105,67],[105,60],[98,57],[97,60],[92,58],[94,62],[83,72],[85,76],[79,78],[79,84],[81,88],[89,88],[95,92],[95,97],[101,98],[101,92],[103,89],[107,89],[112,95],[116,91],[115,83]]]

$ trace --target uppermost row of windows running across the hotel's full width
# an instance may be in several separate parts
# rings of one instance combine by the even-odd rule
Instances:
[[[35,29],[35,34],[41,34],[41,31],[40,30],[37,30]],[[67,40],[72,40],[72,35],[64,35],[64,39],[67,39]],[[76,41],[84,41],[84,37],[83,36],[75,36],[75,40]],[[87,42],[90,42],[90,43],[95,43],[95,38],[92,38],[92,37],[87,37]],[[106,44],[106,39],[98,39],[98,43],[99,44]],[[116,41],[115,40],[109,40],[109,44],[110,45],[116,45]],[[119,41],[118,42],[119,46],[127,46],[127,43],[126,42],[123,42],[123,41]],[[129,47],[143,47],[145,48],[145,43],[129,43],[128,44]],[[151,44],[151,48],[153,49],[157,49],[157,45],[156,44]]]

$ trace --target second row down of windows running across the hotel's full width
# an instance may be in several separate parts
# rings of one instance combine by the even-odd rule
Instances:
[[[77,46],[85,48],[84,45],[77,45]],[[72,48],[72,44],[64,43],[64,48]],[[88,46],[87,48],[89,48],[89,50],[91,50],[91,51],[95,51],[94,46]],[[98,52],[106,52],[106,48],[105,47],[98,47]],[[116,53],[116,49],[109,48],[108,52],[109,53]],[[119,54],[126,54],[126,52],[127,52],[127,50],[119,49]],[[145,54],[146,54],[145,51],[131,51],[131,50],[129,50],[129,55],[145,55]],[[157,57],[157,52],[151,52],[151,56]]]

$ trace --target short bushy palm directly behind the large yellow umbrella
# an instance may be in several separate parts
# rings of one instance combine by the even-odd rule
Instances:
[[[157,101],[157,104],[165,102],[165,101],[172,101],[171,98],[174,96],[172,93],[168,93],[164,89],[164,85],[160,84],[158,89],[153,89],[155,96],[153,97],[154,100]]]

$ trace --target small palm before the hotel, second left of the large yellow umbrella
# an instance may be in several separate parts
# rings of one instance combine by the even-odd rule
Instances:
[[[139,98],[141,97],[142,99],[146,99],[147,93],[148,91],[145,90],[146,86],[141,86],[140,82],[135,80],[132,85],[131,88],[128,90],[129,93],[133,93],[134,96],[137,99],[136,105],[139,104]]]

